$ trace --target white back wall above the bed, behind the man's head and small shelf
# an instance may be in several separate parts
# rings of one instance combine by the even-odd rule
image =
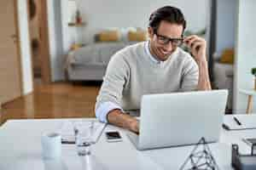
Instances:
[[[68,6],[68,4],[73,1],[55,1],[61,2],[59,5],[61,12],[58,11],[59,9],[55,10],[58,8],[56,5],[49,9],[51,10],[49,11],[49,29],[51,29],[49,32],[53,81],[63,78],[64,56],[71,44],[78,41],[78,37],[79,42],[91,43],[95,33],[105,28],[142,27],[146,29],[149,14],[156,8],[165,5],[182,9],[190,31],[199,31],[205,28],[208,25],[207,15],[210,13],[209,0],[76,0],[82,18],[87,25],[84,28],[75,28],[68,26],[68,22],[72,21],[75,11],[75,8]],[[51,1],[48,0],[48,2]],[[61,17],[54,19],[55,14],[61,14]],[[54,20],[58,21],[58,24],[55,23],[55,29],[52,28],[54,27]],[[59,24],[60,22],[61,24]],[[60,26],[61,30],[59,30]],[[62,36],[60,37],[60,35]],[[55,46],[60,44],[62,48],[58,47],[56,54]]]

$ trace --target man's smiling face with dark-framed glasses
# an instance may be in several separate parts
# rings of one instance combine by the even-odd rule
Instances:
[[[165,61],[182,42],[183,26],[162,20],[157,31],[151,27],[148,28],[148,35],[151,52],[158,59]],[[170,41],[170,38],[173,41]]]

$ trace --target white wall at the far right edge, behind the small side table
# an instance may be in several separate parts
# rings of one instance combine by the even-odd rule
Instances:
[[[236,30],[236,62],[234,82],[234,106],[236,113],[244,113],[247,106],[247,97],[239,93],[240,88],[253,89],[252,67],[256,67],[256,1],[239,0]],[[256,109],[254,98],[253,109]]]

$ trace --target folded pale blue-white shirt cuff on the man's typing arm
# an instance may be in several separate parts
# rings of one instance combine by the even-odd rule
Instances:
[[[96,109],[96,117],[99,119],[100,122],[108,122],[107,116],[109,111],[113,111],[114,109],[119,109],[121,111],[122,108],[119,105],[116,105],[113,102],[105,102],[102,103],[97,109]]]

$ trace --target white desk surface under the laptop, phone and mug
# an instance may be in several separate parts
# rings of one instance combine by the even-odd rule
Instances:
[[[88,161],[92,166],[96,165],[97,170],[178,169],[195,147],[138,151],[127,138],[125,130],[118,128],[123,141],[107,143],[102,136],[99,142],[92,146],[91,160],[79,157],[74,144],[62,144],[61,161],[44,161],[41,157],[41,134],[58,129],[64,120],[67,119],[12,120],[4,123],[0,127],[0,169],[93,169],[87,167]],[[117,129],[113,126],[108,126],[107,129],[109,128]],[[210,149],[220,169],[232,169],[230,144],[239,144],[242,153],[249,153],[249,147],[240,139],[241,137],[255,137],[255,134],[256,130],[226,131],[223,129],[220,142],[210,144]]]

